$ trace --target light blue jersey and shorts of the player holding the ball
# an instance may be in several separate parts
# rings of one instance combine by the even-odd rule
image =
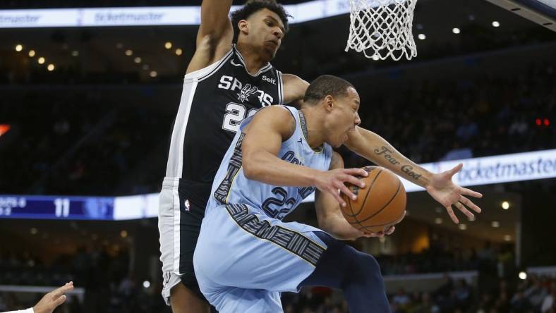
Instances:
[[[283,107],[295,118],[296,130],[282,142],[278,156],[327,171],[332,147],[311,149],[303,113]],[[240,129],[250,121],[243,121]],[[248,180],[242,168],[244,136],[236,134],[214,178],[193,258],[195,276],[207,300],[221,313],[282,312],[279,293],[297,291],[326,250],[314,233],[320,229],[282,221],[315,188]]]

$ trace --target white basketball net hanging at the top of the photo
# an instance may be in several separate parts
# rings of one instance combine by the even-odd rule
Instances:
[[[346,51],[350,48],[374,60],[388,56],[398,61],[417,56],[413,40],[413,9],[417,0],[349,0],[351,25]]]

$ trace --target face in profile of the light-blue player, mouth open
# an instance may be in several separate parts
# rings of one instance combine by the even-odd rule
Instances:
[[[361,124],[359,118],[359,94],[353,87],[348,87],[347,95],[334,99],[334,109],[329,118],[330,135],[328,143],[340,147],[348,140],[348,134]]]

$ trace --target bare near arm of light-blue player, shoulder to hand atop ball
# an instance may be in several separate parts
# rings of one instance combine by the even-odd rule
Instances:
[[[364,184],[355,176],[367,176],[361,168],[337,168],[318,171],[314,168],[291,164],[278,157],[282,142],[294,133],[296,120],[283,106],[267,106],[253,117],[243,130],[246,137],[243,152],[243,173],[250,180],[258,180],[276,186],[315,186],[328,192],[339,204],[346,205],[339,192],[355,197],[344,185],[351,183],[361,188]]]

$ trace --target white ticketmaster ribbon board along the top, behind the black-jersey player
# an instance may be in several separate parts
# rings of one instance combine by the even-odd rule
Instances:
[[[294,17],[290,23],[349,13],[349,1],[345,0],[315,0],[284,7]],[[233,6],[232,10],[236,8],[238,6]],[[0,10],[0,28],[198,25],[199,23],[200,6]]]

